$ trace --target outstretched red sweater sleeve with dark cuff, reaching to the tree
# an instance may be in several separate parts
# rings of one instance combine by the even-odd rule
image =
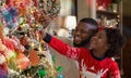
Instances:
[[[55,37],[51,37],[48,34],[44,40],[62,55],[66,55],[73,60],[78,60],[80,57],[81,48],[70,47],[67,43],[62,42],[61,40]]]

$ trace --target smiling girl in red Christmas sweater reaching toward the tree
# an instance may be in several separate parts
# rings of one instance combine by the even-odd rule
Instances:
[[[80,78],[120,78],[118,65],[111,60],[124,42],[119,29],[104,28],[91,39],[90,49],[72,48],[44,31],[41,34],[59,53],[79,62]]]

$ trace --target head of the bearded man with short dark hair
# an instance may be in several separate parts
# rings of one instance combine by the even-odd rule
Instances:
[[[98,24],[95,20],[88,17],[82,18],[73,34],[73,46],[88,48],[90,39],[97,30]]]

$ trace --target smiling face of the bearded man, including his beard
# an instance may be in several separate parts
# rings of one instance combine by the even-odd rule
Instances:
[[[80,22],[75,28],[73,36],[74,47],[84,47],[91,39],[92,29],[88,24]]]

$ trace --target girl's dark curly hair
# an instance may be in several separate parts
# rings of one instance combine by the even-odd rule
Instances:
[[[117,55],[124,43],[124,37],[117,28],[104,28],[107,35],[107,42],[109,43],[109,49],[106,52],[106,56],[112,57]]]

